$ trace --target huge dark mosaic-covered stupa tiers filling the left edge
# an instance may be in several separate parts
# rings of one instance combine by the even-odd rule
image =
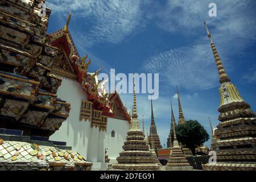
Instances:
[[[51,66],[58,49],[46,33],[51,10],[42,13],[39,3],[44,1],[0,2],[0,128],[20,130],[22,137],[48,138],[59,130],[71,107],[57,98],[62,80],[51,73]],[[0,170],[92,166],[75,151],[0,138]]]

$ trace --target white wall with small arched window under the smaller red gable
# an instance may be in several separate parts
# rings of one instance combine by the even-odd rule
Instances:
[[[117,163],[116,158],[119,156],[119,152],[123,151],[122,146],[126,141],[129,127],[130,124],[126,120],[108,118],[104,147],[108,148],[107,155],[109,156],[110,163]],[[115,137],[111,137],[113,130],[115,131]]]

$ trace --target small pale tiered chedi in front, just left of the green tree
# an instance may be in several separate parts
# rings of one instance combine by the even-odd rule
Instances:
[[[188,160],[183,154],[181,147],[179,146],[179,142],[177,141],[176,137],[176,129],[175,129],[175,122],[172,122],[172,128],[174,131],[174,144],[171,148],[171,154],[169,156],[169,160],[166,164],[166,170],[168,171],[191,171],[193,167],[190,166]]]

